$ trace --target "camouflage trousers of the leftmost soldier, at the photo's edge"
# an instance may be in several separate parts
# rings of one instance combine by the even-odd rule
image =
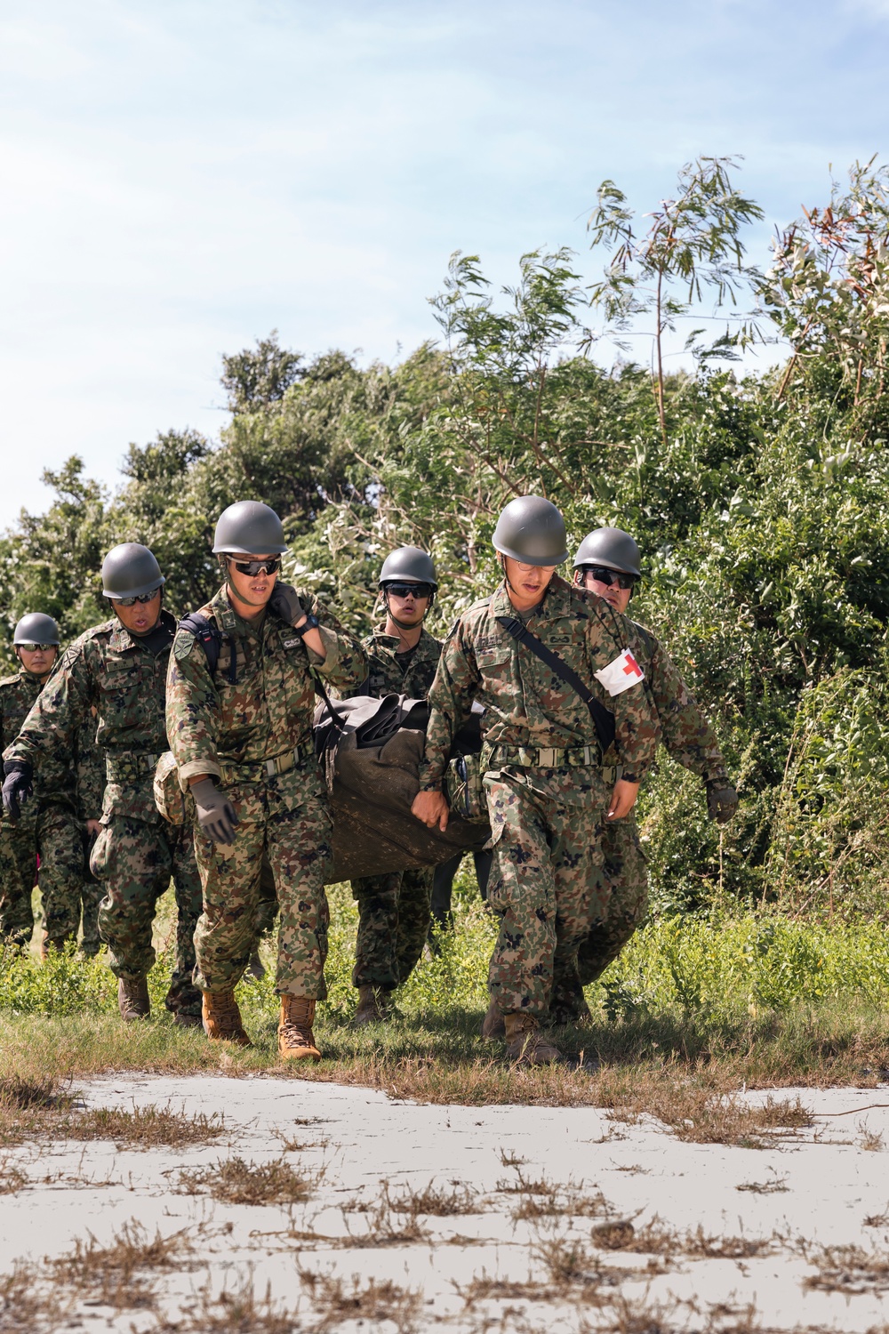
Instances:
[[[25,828],[4,826],[0,831],[3,935],[20,946],[31,940],[31,891],[39,880],[44,943],[61,946],[65,940],[76,940],[85,871],[81,826],[68,807],[47,806]]]

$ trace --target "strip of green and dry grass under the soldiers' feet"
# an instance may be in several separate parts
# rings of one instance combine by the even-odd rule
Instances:
[[[256,1043],[241,1053],[173,1027],[163,1009],[163,952],[151,976],[153,1018],[128,1027],[116,1015],[104,956],[85,962],[71,954],[41,964],[33,955],[9,955],[0,966],[0,1079],[275,1070],[435,1102],[592,1103],[624,1117],[652,1111],[677,1133],[694,1121],[700,1138],[714,1109],[725,1111],[742,1085],[874,1083],[889,1066],[889,943],[877,923],[830,927],[754,915],[654,923],[589,988],[593,1023],[558,1033],[569,1062],[516,1070],[501,1045],[478,1038],[494,927],[466,880],[457,883],[456,931],[401,990],[400,1017],[361,1031],[349,1026],[355,906],[347,887],[331,899],[320,1066],[279,1066],[271,975],[240,987]],[[171,932],[172,903],[164,900],[161,951]],[[271,964],[271,947],[264,954]]]

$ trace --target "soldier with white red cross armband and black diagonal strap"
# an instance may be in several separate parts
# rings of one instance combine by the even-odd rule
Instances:
[[[488,903],[501,919],[489,1015],[502,1014],[512,1059],[542,1063],[560,1057],[540,1034],[553,966],[573,959],[590,919],[606,915],[605,820],[632,810],[654,724],[625,647],[629,624],[556,574],[568,559],[558,510],[540,496],[510,500],[493,544],[504,582],[445,640],[413,814],[446,827],[441,779],[477,699],[494,852]],[[610,728],[616,768],[602,766]]]

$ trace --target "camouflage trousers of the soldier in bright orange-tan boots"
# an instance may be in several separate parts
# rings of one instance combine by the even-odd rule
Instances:
[[[204,911],[195,932],[195,980],[201,991],[225,991],[244,974],[257,927],[269,920],[260,888],[265,859],[280,911],[275,988],[323,1000],[333,826],[315,760],[276,778],[224,786],[239,824],[231,847],[197,834]]]

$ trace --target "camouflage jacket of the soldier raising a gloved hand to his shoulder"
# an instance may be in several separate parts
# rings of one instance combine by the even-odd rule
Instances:
[[[321,622],[324,660],[273,612],[253,630],[232,610],[225,586],[200,610],[224,636],[215,672],[195,636],[177,632],[167,678],[167,735],[183,786],[196,774],[221,776],[221,764],[261,766],[296,747],[311,748],[313,674],[340,690],[367,676],[359,640],[312,594],[300,591],[300,598]]]

